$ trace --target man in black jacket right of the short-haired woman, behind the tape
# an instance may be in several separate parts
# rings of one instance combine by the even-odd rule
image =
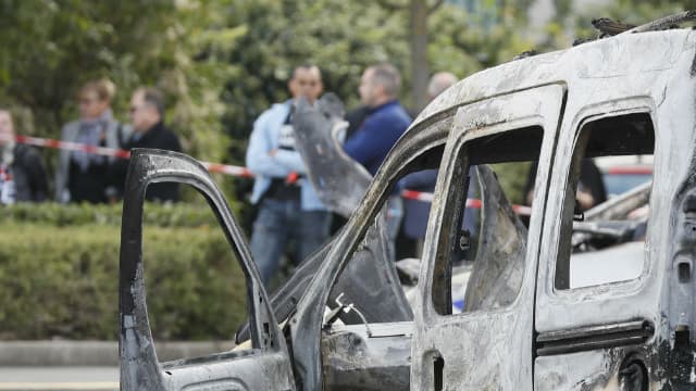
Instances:
[[[182,151],[176,135],[164,126],[164,99],[153,88],[139,88],[130,99],[130,123],[133,135],[125,148],[153,148],[169,151]],[[125,169],[121,169],[121,186],[125,182]],[[154,184],[148,187],[148,201],[178,201],[177,184]]]

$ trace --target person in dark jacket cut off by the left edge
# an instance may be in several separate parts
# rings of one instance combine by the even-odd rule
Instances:
[[[0,204],[41,202],[48,194],[46,167],[32,147],[14,142],[10,111],[0,108]]]

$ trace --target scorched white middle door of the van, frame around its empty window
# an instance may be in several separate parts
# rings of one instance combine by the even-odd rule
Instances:
[[[414,307],[411,384],[417,390],[532,388],[535,277],[543,211],[562,117],[562,84],[538,86],[489,98],[459,109],[437,179],[425,238],[419,295]],[[538,126],[543,129],[534,206],[529,229],[524,277],[517,299],[506,307],[457,315],[440,314],[446,300],[434,295],[435,283],[446,285],[452,209],[461,204],[457,176],[465,175],[460,149],[481,137]],[[458,226],[458,225],[457,225]],[[437,281],[436,281],[437,280]],[[445,289],[446,291],[446,289]],[[442,302],[442,303],[440,303]]]

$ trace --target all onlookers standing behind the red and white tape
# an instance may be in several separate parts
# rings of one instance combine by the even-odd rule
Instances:
[[[442,75],[433,83],[442,84]],[[448,74],[444,90],[456,78]],[[431,83],[431,89],[433,86]],[[273,104],[253,124],[246,155],[254,174],[251,202],[258,205],[251,252],[268,282],[278,267],[286,245],[294,242],[294,260],[300,262],[328,237],[332,214],[320,201],[295,149],[293,115],[300,98],[315,102],[323,92],[322,74],[314,65],[297,66],[287,84],[291,98]],[[343,148],[374,175],[388,151],[406,131],[411,115],[400,104],[401,77],[390,64],[364,70],[360,80],[362,106],[348,114],[352,123]],[[115,86],[107,79],[85,84],[77,93],[79,119],[66,124],[63,141],[130,150],[157,148],[181,151],[177,137],[164,125],[164,100],[153,88],[138,88],[132,96],[129,124],[119,122],[111,110]],[[41,202],[48,194],[47,173],[39,153],[14,142],[11,112],[0,108],[0,203]],[[127,160],[87,151],[61,150],[55,169],[58,202],[112,203],[121,199]],[[177,201],[178,186],[156,184],[148,200]],[[391,240],[400,228],[402,200],[388,200],[387,229]],[[418,229],[417,229],[418,230]]]

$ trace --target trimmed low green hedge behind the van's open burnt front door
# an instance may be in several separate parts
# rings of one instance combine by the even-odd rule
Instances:
[[[12,222],[48,211],[54,226]],[[65,225],[97,211],[115,218],[110,207],[2,210],[0,339],[116,338],[120,227]],[[244,276],[216,223],[146,226],[144,262],[156,338],[231,339],[246,318]]]

